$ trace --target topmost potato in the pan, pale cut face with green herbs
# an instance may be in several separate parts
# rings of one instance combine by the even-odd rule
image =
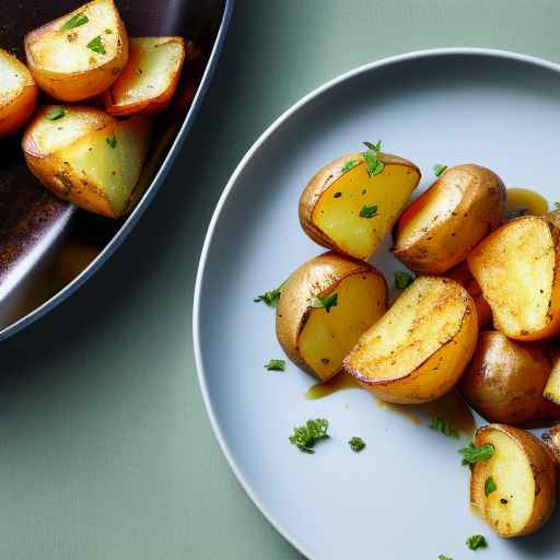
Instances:
[[[92,0],[25,35],[25,55],[42,90],[60,101],[103,93],[128,59],[128,37],[113,0]]]

